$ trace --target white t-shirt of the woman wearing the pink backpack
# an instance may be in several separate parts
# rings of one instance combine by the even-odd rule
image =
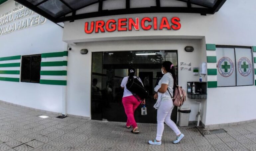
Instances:
[[[173,76],[172,76],[171,73],[168,72],[168,73],[164,74],[162,79],[159,81],[158,85],[167,84],[168,85],[168,90],[171,93],[171,95],[173,96],[173,83],[174,83]],[[168,92],[168,90],[166,90],[164,98],[171,98],[170,93]]]

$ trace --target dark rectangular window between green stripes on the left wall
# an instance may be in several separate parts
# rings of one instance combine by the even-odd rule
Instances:
[[[40,82],[41,54],[22,56],[21,82]]]

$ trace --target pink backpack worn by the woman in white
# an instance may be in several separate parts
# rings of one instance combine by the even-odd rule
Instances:
[[[168,90],[168,88],[167,88]],[[170,91],[168,90],[170,93]],[[170,93],[171,95],[171,93]],[[172,95],[171,95],[172,97]],[[182,87],[176,85],[174,96],[173,96],[173,105],[176,107],[180,107],[183,105],[183,103],[186,101],[186,92],[182,89]]]

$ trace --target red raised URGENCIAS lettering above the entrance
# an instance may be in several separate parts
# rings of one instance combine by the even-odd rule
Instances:
[[[180,18],[173,17],[168,20],[167,17],[162,17],[161,21],[158,24],[157,17],[144,17],[140,18],[121,18],[121,19],[110,19],[108,21],[92,21],[85,22],[84,31],[86,34],[95,33],[104,33],[104,32],[114,32],[114,31],[136,31],[142,30],[179,30],[181,29]]]

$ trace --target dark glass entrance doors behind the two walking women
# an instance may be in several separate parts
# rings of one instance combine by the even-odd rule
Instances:
[[[128,68],[136,69],[145,88],[150,92],[146,99],[148,115],[141,115],[140,107],[135,111],[135,119],[140,123],[156,123],[157,110],[153,108],[154,87],[163,76],[163,61],[171,61],[176,69],[177,51],[118,51],[95,52],[92,54],[91,117],[96,120],[125,122],[127,117],[122,105],[121,81],[128,76]],[[177,73],[178,75],[178,73]],[[178,78],[177,78],[178,79]],[[178,82],[178,81],[177,81]],[[177,109],[172,120],[177,120]]]

